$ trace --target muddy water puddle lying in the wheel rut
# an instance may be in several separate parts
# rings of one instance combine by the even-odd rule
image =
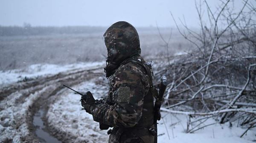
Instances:
[[[38,112],[35,113],[34,119],[33,119],[33,125],[35,126],[35,134],[38,137],[38,140],[40,143],[61,143],[58,139],[50,135],[49,132],[47,132],[46,126],[44,125],[44,121],[42,120],[42,117],[44,115],[44,110],[40,109]]]

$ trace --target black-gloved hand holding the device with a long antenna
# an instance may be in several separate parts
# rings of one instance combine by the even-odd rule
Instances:
[[[90,91],[81,96],[81,105],[84,107],[85,111],[92,114],[93,109],[97,104],[99,104],[94,98]]]

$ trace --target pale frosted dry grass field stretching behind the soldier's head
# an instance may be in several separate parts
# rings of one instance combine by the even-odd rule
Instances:
[[[163,31],[164,38],[169,31]],[[156,29],[138,30],[142,55],[154,59],[166,54]],[[31,64],[71,64],[87,61],[104,61],[106,48],[102,32],[88,34],[55,34],[35,36],[0,36],[0,70],[26,67]],[[177,32],[170,41],[171,55],[189,47]]]

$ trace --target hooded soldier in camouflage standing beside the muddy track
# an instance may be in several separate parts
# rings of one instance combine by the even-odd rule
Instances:
[[[108,143],[153,143],[153,73],[151,64],[140,56],[138,33],[130,23],[120,21],[108,28],[104,38],[108,96],[96,101],[88,91],[81,105],[101,129],[113,127]]]

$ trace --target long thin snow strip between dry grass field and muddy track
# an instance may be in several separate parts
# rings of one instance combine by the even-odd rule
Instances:
[[[103,66],[105,62],[80,62],[76,64],[57,65],[57,64],[32,64],[23,69],[0,71],[0,87],[7,86],[23,79],[35,79],[39,76],[54,75],[67,70],[79,68],[93,68]]]

